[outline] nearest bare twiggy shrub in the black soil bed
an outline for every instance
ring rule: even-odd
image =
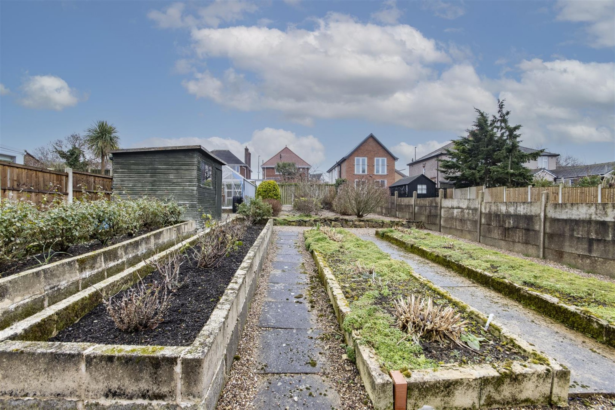
[[[163,320],[172,297],[164,284],[146,285],[143,280],[124,292],[122,299],[103,299],[109,317],[124,332],[154,329]]]

